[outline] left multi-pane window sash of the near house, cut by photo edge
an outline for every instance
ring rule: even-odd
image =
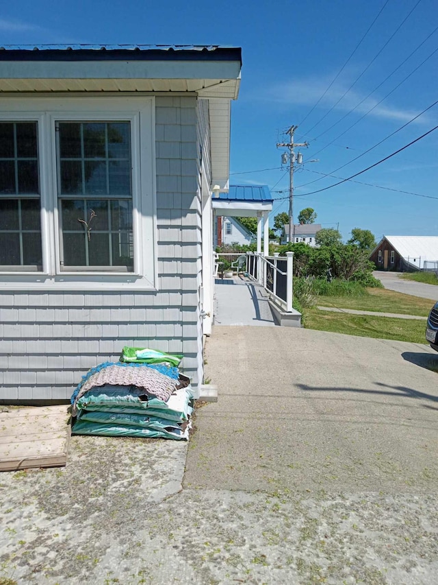
[[[36,122],[0,122],[0,267],[42,270]]]

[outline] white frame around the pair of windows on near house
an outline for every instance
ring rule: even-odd
[[[133,272],[68,271],[60,265],[55,122],[129,121],[131,124]],[[38,123],[42,272],[2,271],[1,289],[154,289],[157,283],[155,100],[153,97],[0,98],[0,121]],[[141,144],[141,149],[140,149]]]

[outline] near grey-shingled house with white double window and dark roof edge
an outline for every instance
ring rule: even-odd
[[[211,194],[229,187],[240,48],[0,50],[0,401],[64,401],[123,346],[211,331]]]

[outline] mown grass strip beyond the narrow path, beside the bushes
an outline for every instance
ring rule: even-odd
[[[361,296],[318,296],[316,304],[337,309],[357,309],[377,313],[399,313],[427,317],[433,301],[388,289],[364,289]]]

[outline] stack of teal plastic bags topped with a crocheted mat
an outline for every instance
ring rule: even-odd
[[[187,440],[193,396],[181,356],[124,348],[120,359],[91,368],[77,385],[72,432]]]

